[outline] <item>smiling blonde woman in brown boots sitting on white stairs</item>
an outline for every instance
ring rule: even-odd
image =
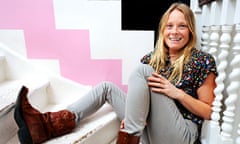
[[[204,119],[210,119],[217,76],[214,58],[194,48],[195,19],[191,9],[174,3],[159,24],[154,52],[130,75],[127,96],[109,82],[59,112],[40,113],[21,89],[15,109],[21,143],[42,143],[71,132],[80,120],[105,102],[121,123],[117,144],[193,144]]]

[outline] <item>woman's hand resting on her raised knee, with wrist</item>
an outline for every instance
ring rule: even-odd
[[[153,92],[162,93],[173,99],[181,99],[184,97],[184,92],[176,88],[170,81],[154,72],[148,77],[148,85]]]

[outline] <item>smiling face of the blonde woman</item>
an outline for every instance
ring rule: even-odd
[[[170,53],[176,53],[189,41],[189,29],[182,12],[175,9],[168,18],[163,31],[164,42]]]

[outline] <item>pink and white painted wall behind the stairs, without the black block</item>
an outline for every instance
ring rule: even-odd
[[[81,84],[126,90],[153,42],[153,31],[121,30],[120,0],[0,0],[0,43]]]

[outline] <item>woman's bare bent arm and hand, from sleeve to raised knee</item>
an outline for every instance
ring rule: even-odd
[[[198,99],[186,94],[183,90],[176,88],[167,79],[157,73],[148,78],[148,85],[153,92],[163,93],[173,99],[177,99],[186,109],[204,119],[211,118],[211,106],[214,100],[214,89],[216,87],[215,74],[209,73],[205,82],[198,88]]]

